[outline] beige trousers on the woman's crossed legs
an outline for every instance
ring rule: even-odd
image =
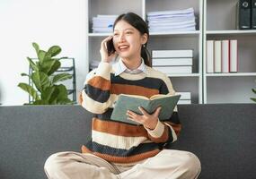
[[[72,151],[53,154],[45,163],[49,179],[194,179],[200,169],[194,154],[173,149],[163,149],[153,158],[131,166]]]

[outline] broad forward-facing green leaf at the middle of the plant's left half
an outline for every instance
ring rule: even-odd
[[[33,72],[31,74],[31,79],[33,83],[36,85],[36,88],[42,92],[45,90],[47,87],[50,86],[50,81],[49,77],[46,73],[44,72]]]

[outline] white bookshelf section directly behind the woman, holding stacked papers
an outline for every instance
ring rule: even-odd
[[[99,60],[101,55],[100,45],[103,38],[110,33],[93,33],[92,18],[97,14],[120,14],[134,12],[146,20],[146,13],[153,11],[181,10],[193,7],[197,17],[195,31],[164,31],[161,33],[150,33],[148,50],[166,49],[193,49],[193,67],[189,74],[169,75],[176,91],[191,92],[191,102],[203,103],[203,0],[88,0],[88,28],[86,38],[86,63],[90,60]],[[88,72],[88,69],[86,69]]]

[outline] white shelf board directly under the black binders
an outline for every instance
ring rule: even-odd
[[[207,30],[207,35],[251,35],[256,30]]]

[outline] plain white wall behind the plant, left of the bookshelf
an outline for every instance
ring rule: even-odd
[[[59,56],[75,57],[76,88],[85,79],[85,0],[1,0],[0,1],[0,103],[22,105],[28,93],[17,87],[28,82],[26,56],[35,57],[32,42],[47,50],[60,46]]]

